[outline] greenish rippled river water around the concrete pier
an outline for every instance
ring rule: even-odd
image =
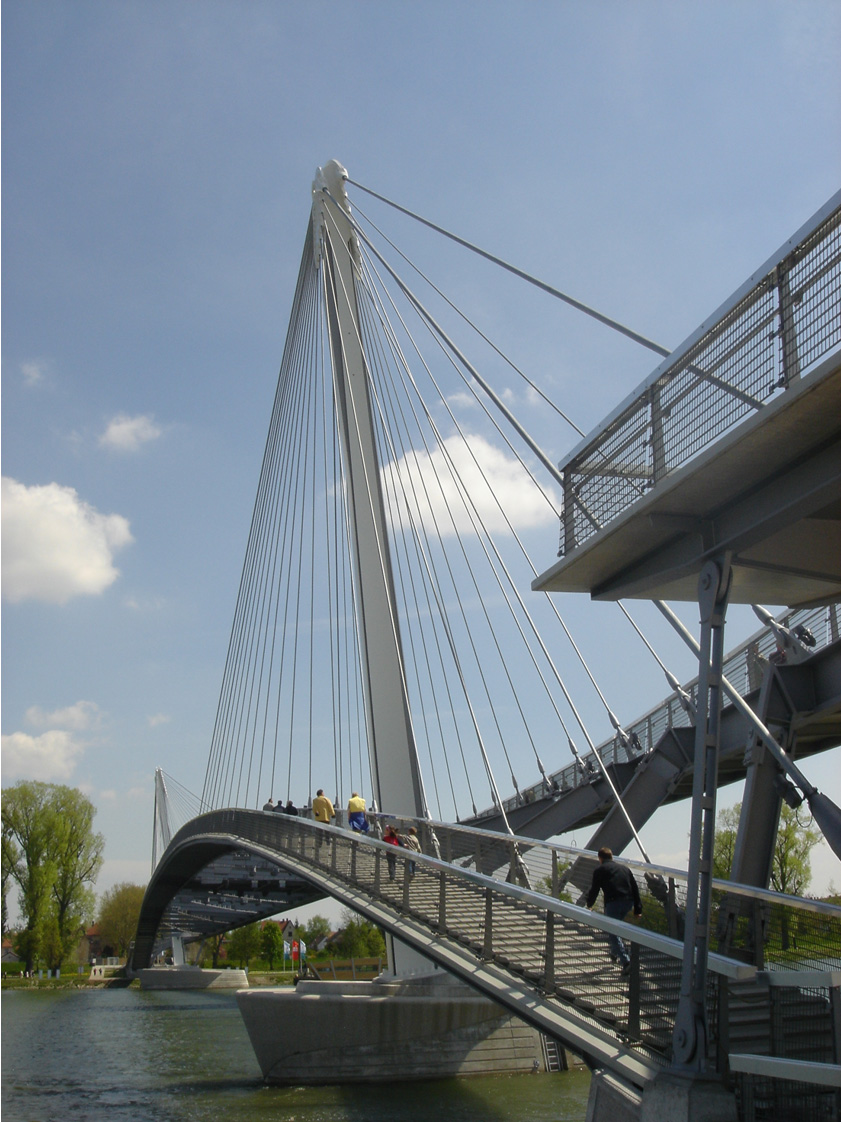
[[[268,1087],[231,992],[7,990],[0,1008],[3,1122],[583,1122],[586,1112],[584,1070]]]

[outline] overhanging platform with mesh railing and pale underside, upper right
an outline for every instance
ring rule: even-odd
[[[711,552],[731,603],[841,595],[841,192],[561,465],[543,591],[694,600]]]

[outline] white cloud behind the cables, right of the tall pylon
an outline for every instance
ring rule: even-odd
[[[404,506],[405,489],[414,519],[419,517],[429,528],[437,522],[442,536],[455,533],[453,522],[459,533],[471,531],[472,523],[464,507],[461,489],[456,487],[446,462],[450,460],[473,508],[490,533],[507,528],[502,512],[517,530],[555,522],[554,512],[518,460],[507,456],[483,436],[468,439],[469,448],[461,436],[451,436],[444,441],[446,456],[441,449],[435,449],[431,454],[408,453],[396,466],[383,468],[386,486],[389,491],[400,496],[400,516],[404,521],[408,519]],[[410,482],[406,482],[404,487],[398,482],[399,479],[408,479]]]

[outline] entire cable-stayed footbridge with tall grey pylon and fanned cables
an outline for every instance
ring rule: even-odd
[[[135,966],[167,932],[333,895],[392,937],[392,971],[442,966],[643,1102],[665,1073],[740,1080],[745,1116],[786,1079],[837,1111],[841,911],[769,885],[783,801],[841,850],[801,767],[841,739],[841,196],[674,352],[538,283],[664,357],[557,467],[544,445],[563,411],[348,182],[331,164],[314,184],[204,788],[174,836],[160,819]],[[529,402],[538,434],[517,416]],[[542,573],[553,524],[561,560]],[[622,723],[603,647],[529,586],[650,601],[697,675],[680,680],[620,604],[635,662],[669,688]],[[666,599],[700,605],[699,640]],[[730,599],[764,626],[726,660]],[[721,883],[715,792],[737,779]],[[423,854],[259,809],[306,810],[317,788],[362,791]],[[688,795],[680,874],[644,835]],[[546,842],[588,826],[588,852]],[[606,844],[644,858],[640,927],[580,907]],[[634,947],[627,977],[611,931]]]

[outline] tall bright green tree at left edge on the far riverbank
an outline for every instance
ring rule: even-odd
[[[104,847],[95,813],[75,788],[21,781],[3,791],[3,894],[11,882],[18,886],[27,969],[41,959],[59,967],[93,914]]]

